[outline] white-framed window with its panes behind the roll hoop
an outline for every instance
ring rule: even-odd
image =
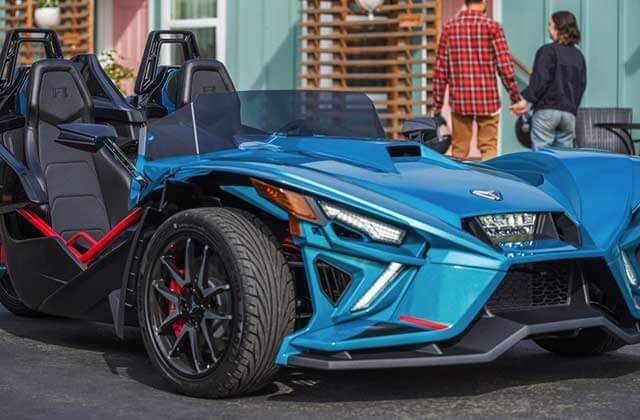
[[[225,15],[226,0],[162,0],[162,28],[193,31],[200,54],[220,61],[225,58]],[[171,51],[170,61],[179,61],[177,54]]]

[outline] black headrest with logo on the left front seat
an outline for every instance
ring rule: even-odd
[[[31,67],[27,95],[30,118],[52,124],[91,119],[91,94],[71,61],[48,59],[35,63]]]

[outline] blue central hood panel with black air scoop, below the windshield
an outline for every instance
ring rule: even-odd
[[[453,161],[417,144],[339,140],[290,142],[286,149],[314,159],[300,166],[340,178],[418,209],[452,213],[460,218],[514,211],[562,211],[562,206],[535,186],[480,165]],[[393,157],[407,154],[417,156]],[[327,150],[328,149],[328,150]],[[474,195],[494,191],[499,201]]]

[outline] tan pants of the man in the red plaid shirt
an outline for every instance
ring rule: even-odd
[[[478,149],[482,153],[482,160],[496,157],[498,154],[498,124],[500,115],[461,115],[451,114],[453,128],[453,157],[466,159],[469,156],[471,138],[473,137],[473,122],[478,124]]]

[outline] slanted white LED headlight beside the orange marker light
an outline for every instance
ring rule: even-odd
[[[363,216],[326,201],[319,201],[319,204],[327,218],[356,229],[374,241],[400,245],[404,240],[406,232],[395,226]]]

